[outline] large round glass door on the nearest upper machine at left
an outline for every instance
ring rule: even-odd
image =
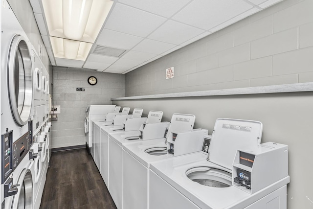
[[[28,122],[33,101],[33,75],[28,46],[20,35],[13,38],[8,63],[10,107],[15,122],[23,126]]]

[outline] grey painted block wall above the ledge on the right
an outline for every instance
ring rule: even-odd
[[[312,8],[283,0],[133,70],[125,96],[313,82]]]

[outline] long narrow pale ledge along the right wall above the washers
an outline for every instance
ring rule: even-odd
[[[219,95],[241,95],[241,94],[261,94],[261,93],[291,93],[291,92],[312,92],[313,82],[284,84],[274,86],[247,87],[237,89],[222,89],[199,92],[182,92],[182,93],[164,93],[142,96],[128,96],[111,98],[111,100],[131,100],[131,99],[154,99],[154,98],[171,98],[171,97],[190,97],[190,96],[219,96]]]

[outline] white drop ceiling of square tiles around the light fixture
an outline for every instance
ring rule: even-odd
[[[53,66],[125,74],[278,1],[114,0],[86,61],[54,57],[42,2],[30,3]],[[94,54],[98,45],[125,52],[118,57]]]

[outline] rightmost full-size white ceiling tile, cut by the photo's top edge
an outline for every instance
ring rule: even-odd
[[[250,8],[243,0],[195,0],[172,19],[209,30]]]

